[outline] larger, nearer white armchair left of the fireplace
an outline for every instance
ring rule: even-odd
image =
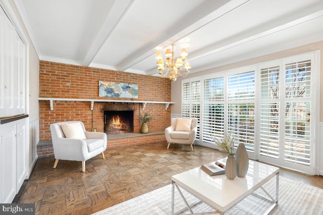
[[[107,140],[104,132],[89,132],[83,122],[67,121],[51,124],[50,133],[56,159],[54,169],[59,160],[82,161],[82,172],[85,172],[85,161],[99,154],[104,159]]]

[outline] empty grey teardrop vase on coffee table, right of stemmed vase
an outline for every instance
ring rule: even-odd
[[[249,157],[244,144],[239,144],[236,151],[237,176],[245,177],[249,168]]]

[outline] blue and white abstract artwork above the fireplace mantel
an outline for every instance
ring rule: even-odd
[[[99,97],[138,98],[138,85],[99,81]]]

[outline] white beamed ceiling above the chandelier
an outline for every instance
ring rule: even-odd
[[[14,2],[40,60],[146,75],[174,42],[194,73],[323,40],[322,0]]]

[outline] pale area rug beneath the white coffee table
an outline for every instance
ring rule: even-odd
[[[266,183],[265,190],[275,196],[276,177]],[[181,190],[189,203],[197,199]],[[258,189],[256,192],[262,192]],[[128,201],[93,213],[102,214],[171,214],[172,187],[167,185]],[[225,214],[263,214],[270,203],[254,195],[239,202]],[[175,211],[185,207],[185,204],[175,189]],[[213,209],[204,203],[192,207],[193,212],[207,212]],[[188,210],[183,213],[189,213]],[[323,214],[323,189],[313,187],[302,182],[280,176],[279,178],[279,205],[270,214]]]

